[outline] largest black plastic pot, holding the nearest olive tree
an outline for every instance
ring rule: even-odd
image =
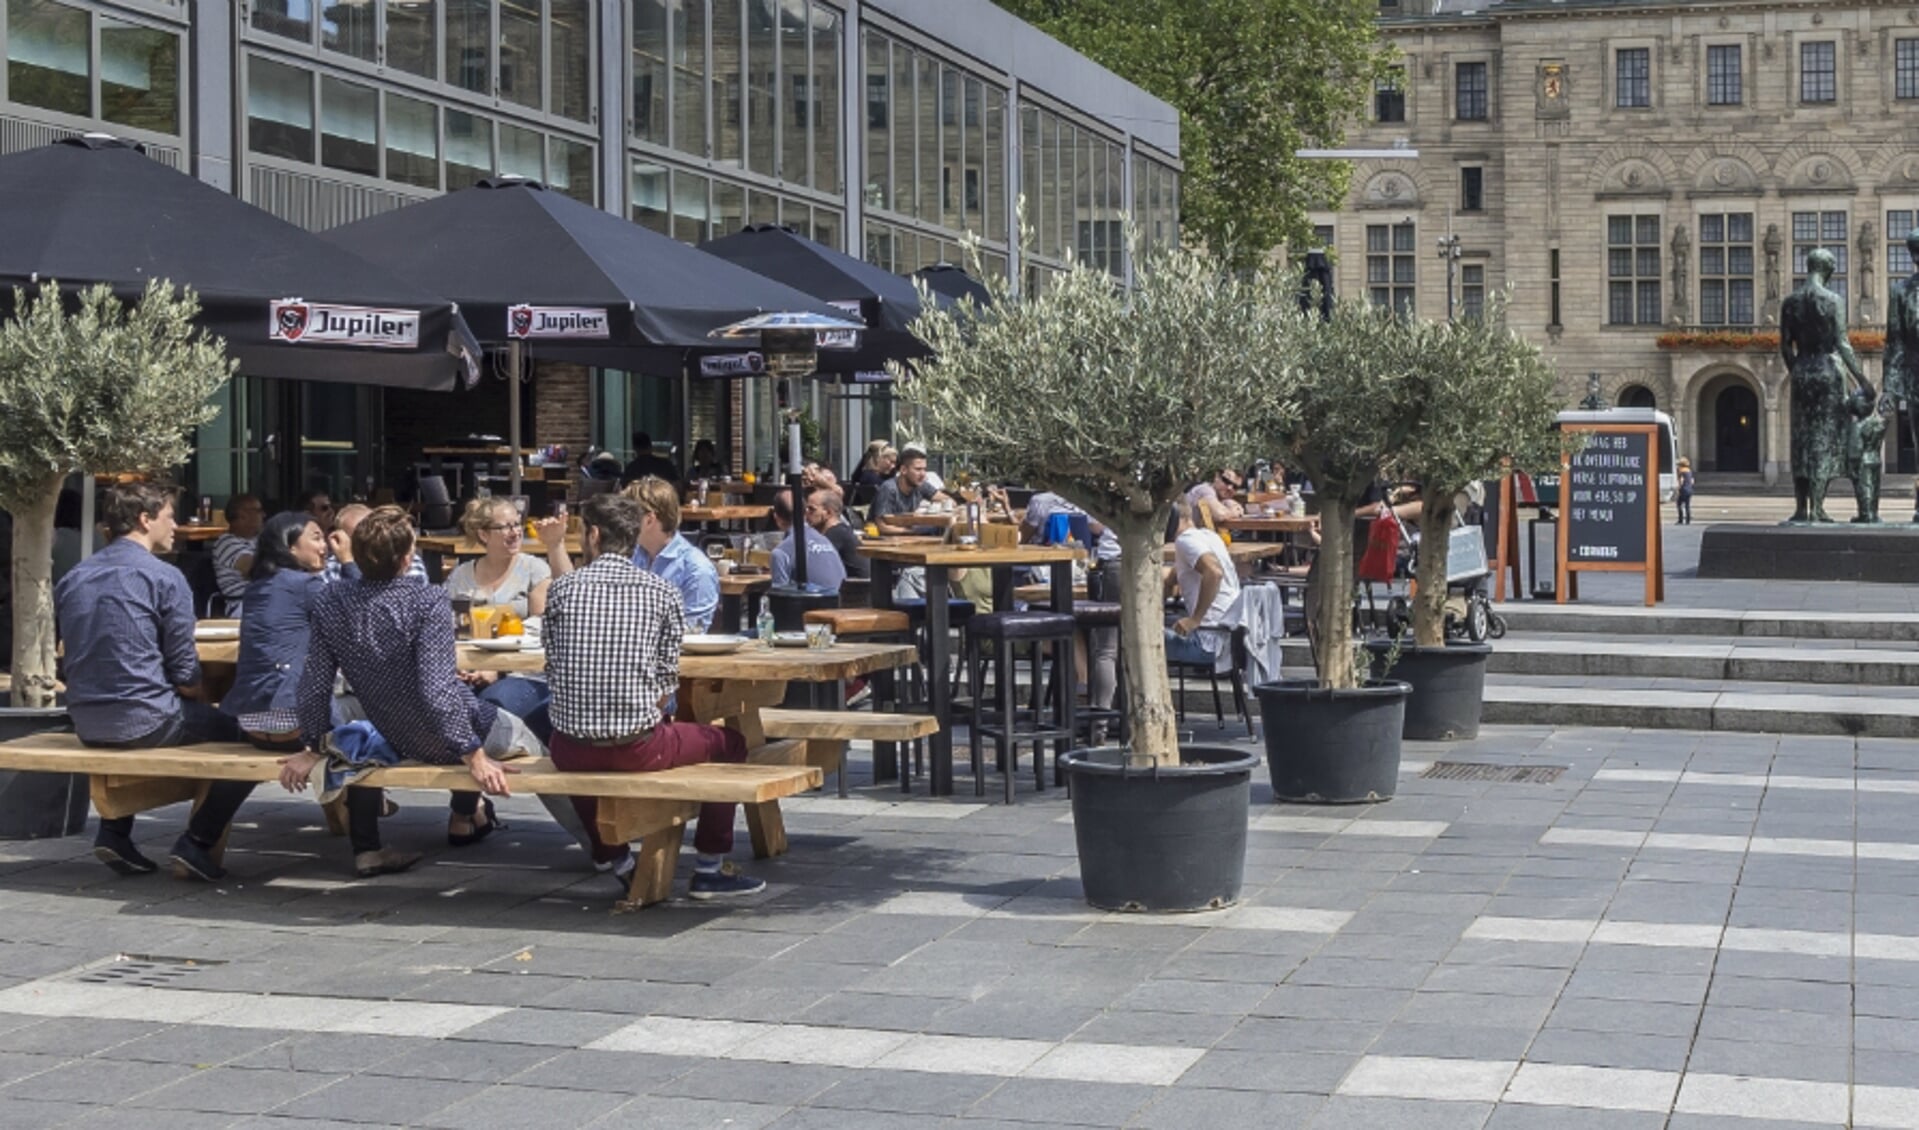
[[[1180,746],[1178,765],[1134,769],[1125,750],[1103,748],[1073,750],[1061,764],[1086,902],[1146,913],[1240,902],[1259,754]]]

